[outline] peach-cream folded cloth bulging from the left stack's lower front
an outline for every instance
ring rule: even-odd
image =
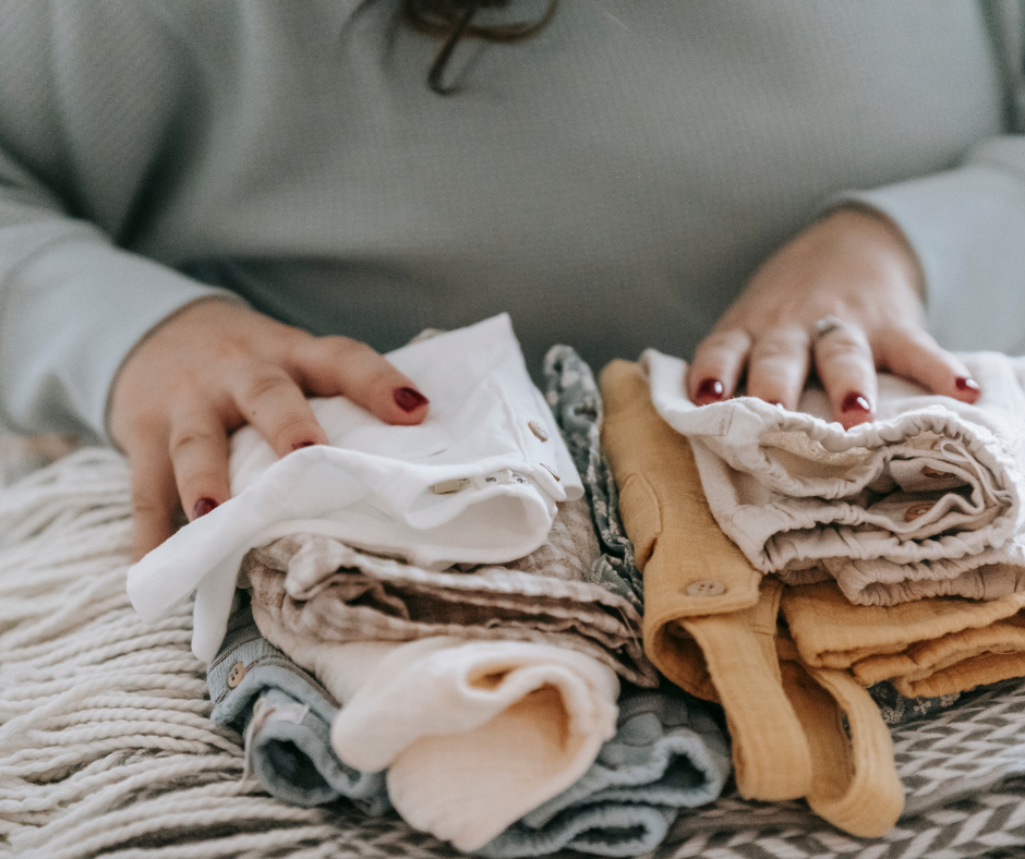
[[[399,814],[460,850],[572,785],[615,734],[616,676],[574,651],[447,637],[339,643],[255,616],[342,703],[338,757],[387,769]]]

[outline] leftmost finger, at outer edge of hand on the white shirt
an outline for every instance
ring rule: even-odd
[[[132,537],[134,560],[174,533],[173,518],[178,506],[174,473],[167,453],[167,435],[140,433],[138,437],[144,440],[128,451],[135,524]]]

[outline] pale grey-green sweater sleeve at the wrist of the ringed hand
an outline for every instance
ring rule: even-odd
[[[904,232],[941,346],[1025,353],[1025,135],[982,142],[958,169],[832,201],[847,202]]]

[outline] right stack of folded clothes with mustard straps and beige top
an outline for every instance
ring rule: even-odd
[[[813,389],[801,412],[698,408],[676,359],[604,371],[646,652],[723,704],[745,797],[806,797],[881,835],[903,790],[866,688],[887,681],[894,721],[894,695],[951,700],[1025,675],[1025,363],[965,361],[975,406],[882,377],[879,420],[847,432]]]

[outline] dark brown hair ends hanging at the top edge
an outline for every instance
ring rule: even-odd
[[[451,95],[455,89],[442,82],[445,66],[456,45],[463,38],[478,38],[485,41],[512,43],[524,41],[544,29],[555,15],[558,0],[548,0],[544,14],[536,21],[515,21],[508,24],[473,23],[479,9],[502,8],[509,0],[402,0],[402,17],[414,29],[444,39],[431,70],[427,72],[427,85],[439,96]]]

